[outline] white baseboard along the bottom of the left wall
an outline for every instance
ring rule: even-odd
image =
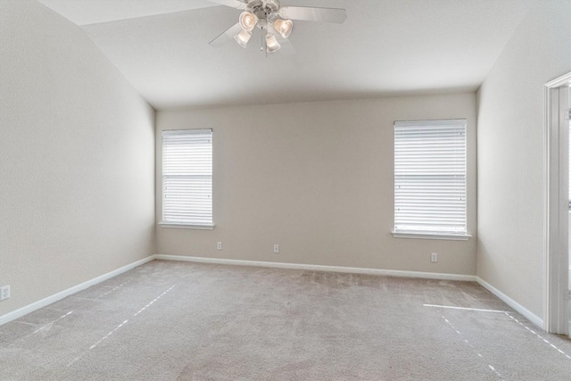
[[[151,256],[146,257],[145,259],[142,259],[140,261],[130,263],[127,266],[123,266],[120,269],[116,269],[116,270],[113,270],[111,272],[108,272],[107,274],[103,274],[100,277],[95,277],[91,280],[87,280],[87,282],[83,282],[78,286],[70,287],[67,290],[63,290],[60,293],[50,295],[50,296],[48,296],[42,300],[28,304],[27,306],[24,306],[18,310],[8,312],[5,315],[0,316],[0,326],[2,326],[3,324],[5,324],[9,321],[12,321],[14,319],[21,318],[22,316],[27,315],[30,312],[33,312],[33,311],[39,310],[40,308],[46,307],[47,305],[52,304],[53,302],[57,302],[59,300],[62,300],[66,296],[70,296],[70,294],[75,294],[81,290],[85,290],[87,287],[94,286],[94,285],[101,283],[101,282],[103,282],[107,279],[110,279],[112,277],[117,277],[118,275],[120,275],[124,272],[127,272],[129,269],[135,269],[136,267],[141,266],[142,264],[145,264],[146,262],[153,261],[154,257],[155,257],[154,255],[151,255]]]

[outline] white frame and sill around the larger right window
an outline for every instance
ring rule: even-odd
[[[397,128],[406,127],[446,127],[463,125],[464,128],[464,226],[462,231],[439,230],[439,229],[408,229],[396,228],[397,224]],[[419,238],[419,239],[442,239],[442,240],[459,240],[467,241],[471,235],[468,234],[468,120],[451,119],[451,120],[396,120],[393,124],[394,145],[393,145],[393,230],[391,233],[395,238]],[[434,154],[434,153],[430,153]],[[420,224],[419,224],[420,225]]]

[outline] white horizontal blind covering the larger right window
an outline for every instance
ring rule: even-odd
[[[394,232],[466,235],[466,120],[394,124]]]

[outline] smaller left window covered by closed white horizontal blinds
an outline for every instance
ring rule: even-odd
[[[161,225],[213,228],[211,129],[162,131]]]

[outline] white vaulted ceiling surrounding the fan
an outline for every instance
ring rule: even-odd
[[[267,58],[212,38],[240,11],[205,0],[39,0],[82,25],[156,109],[280,104],[476,90],[534,0],[283,0],[347,9],[294,21]],[[110,5],[112,3],[112,6]]]

